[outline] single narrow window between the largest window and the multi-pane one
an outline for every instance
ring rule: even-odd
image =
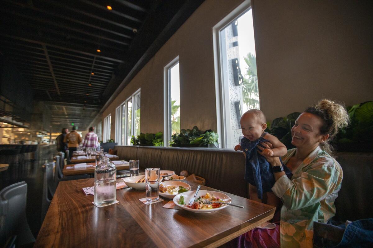
[[[164,144],[180,133],[180,73],[179,57],[164,67]]]

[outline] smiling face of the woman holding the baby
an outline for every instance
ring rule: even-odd
[[[319,145],[320,140],[325,140],[326,135],[320,134],[323,120],[314,114],[303,112],[295,120],[291,128],[291,144],[298,147],[314,147]],[[329,136],[329,135],[327,135]]]

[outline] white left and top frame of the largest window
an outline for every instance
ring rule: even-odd
[[[250,0],[245,0],[238,7],[236,7],[231,13],[225,16],[220,22],[213,27],[213,50],[214,50],[214,74],[215,74],[215,95],[216,95],[216,124],[217,133],[219,135],[218,142],[222,148],[227,147],[227,124],[225,101],[225,85],[224,85],[224,73],[223,73],[223,58],[220,51],[222,40],[220,37],[220,31],[230,25],[233,20],[244,15],[251,8]],[[229,113],[229,112],[228,112]]]

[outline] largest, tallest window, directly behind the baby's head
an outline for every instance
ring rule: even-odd
[[[233,148],[242,137],[239,120],[259,109],[254,26],[250,2],[245,1],[213,31],[219,142]]]

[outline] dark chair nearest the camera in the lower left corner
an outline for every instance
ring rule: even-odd
[[[12,242],[13,235],[17,236],[16,247],[35,242],[26,218],[26,195],[24,181],[0,191],[0,244]]]

